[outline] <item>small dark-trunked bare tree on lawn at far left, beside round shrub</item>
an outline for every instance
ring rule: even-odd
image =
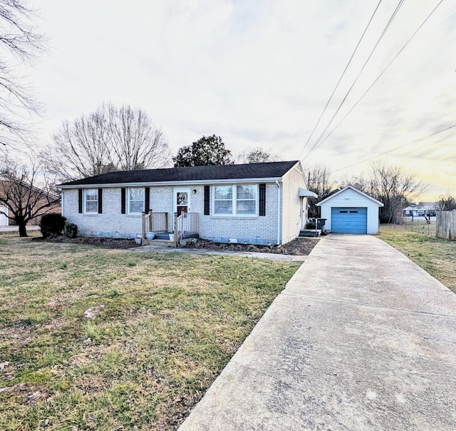
[[[8,212],[0,211],[19,226],[19,236],[27,236],[30,220],[46,213],[60,201],[54,182],[43,174],[36,159],[30,165],[4,156],[0,160],[0,203]]]

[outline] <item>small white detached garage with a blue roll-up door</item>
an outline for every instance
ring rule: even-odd
[[[333,233],[378,233],[378,208],[383,203],[353,186],[341,188],[316,204],[321,218],[326,218],[325,230]]]

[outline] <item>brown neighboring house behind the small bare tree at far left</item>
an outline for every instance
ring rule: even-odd
[[[16,211],[18,206],[23,206],[23,208],[26,206],[27,208],[25,213],[28,217],[36,215],[36,217],[31,218],[31,220],[27,222],[27,225],[38,225],[40,215],[46,213],[60,213],[61,211],[61,203],[58,195],[48,195],[46,191],[23,182],[21,182],[19,186],[11,186],[8,176],[2,175],[0,176],[0,196],[8,195],[11,195],[11,201],[8,202],[8,205],[12,206],[14,211]],[[46,205],[49,198],[51,201],[56,201],[56,203],[38,210],[37,213],[34,213],[35,208],[41,208],[41,206]],[[8,208],[8,206],[2,203],[0,205],[0,226],[17,225],[16,220],[14,220],[14,218],[9,218],[9,216],[12,216],[12,211]]]

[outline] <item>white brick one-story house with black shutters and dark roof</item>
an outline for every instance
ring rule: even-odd
[[[62,214],[80,235],[134,238],[150,210],[166,224],[156,231],[173,232],[174,215],[196,215],[199,238],[257,245],[296,238],[306,198],[316,197],[299,161],[111,172],[58,188]]]

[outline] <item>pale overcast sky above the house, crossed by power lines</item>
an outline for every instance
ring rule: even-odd
[[[405,0],[328,132],[440,0]],[[400,2],[399,2],[400,3]],[[421,200],[456,194],[456,4],[444,0],[363,100],[315,151],[398,0],[383,0],[338,91],[311,131],[378,0],[36,1],[50,40],[31,74],[46,106],[43,145],[62,121],[103,102],[143,108],[172,153],[216,134],[234,154],[261,146],[282,160],[325,163],[334,176],[385,151],[430,184]],[[306,145],[307,143],[307,145]],[[408,145],[406,145],[408,144]],[[377,160],[375,158],[371,160]],[[353,163],[358,163],[355,166]],[[347,166],[351,166],[346,168]]]

